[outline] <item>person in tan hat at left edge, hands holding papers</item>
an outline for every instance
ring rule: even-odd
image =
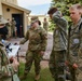
[[[9,57],[6,45],[3,41],[9,35],[8,21],[0,16],[0,81],[19,81],[17,70],[19,63],[15,57]]]

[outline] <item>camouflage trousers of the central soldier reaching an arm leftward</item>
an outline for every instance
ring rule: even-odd
[[[32,62],[35,62],[35,71],[36,71],[36,75],[39,75],[40,73],[40,62],[41,62],[41,54],[39,51],[27,51],[27,54],[26,54],[26,64],[25,64],[25,72],[29,72],[30,71],[30,68],[32,66]]]

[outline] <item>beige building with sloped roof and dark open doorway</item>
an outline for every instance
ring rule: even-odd
[[[17,0],[0,0],[0,16],[5,19],[16,21],[17,37],[25,36],[28,26],[29,10],[18,6]]]

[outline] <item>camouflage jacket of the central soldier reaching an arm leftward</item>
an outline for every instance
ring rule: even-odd
[[[24,44],[29,40],[29,51],[45,51],[46,39],[46,31],[42,27],[38,27],[36,29],[30,28],[27,31],[25,39],[20,41],[20,44]]]

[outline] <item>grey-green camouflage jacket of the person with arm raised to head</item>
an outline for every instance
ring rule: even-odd
[[[67,50],[67,21],[60,17],[57,12],[53,15],[53,22],[56,24],[53,35],[53,50]]]

